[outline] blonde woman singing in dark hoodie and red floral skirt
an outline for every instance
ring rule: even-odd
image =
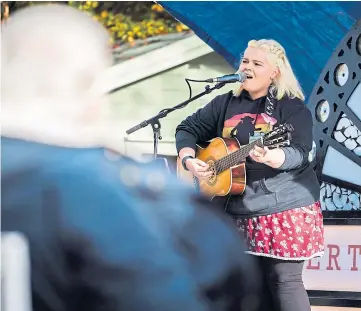
[[[261,309],[307,311],[310,303],[302,281],[303,265],[324,252],[320,188],[308,160],[311,113],[278,42],[250,41],[239,71],[247,80],[236,91],[215,97],[177,127],[178,155],[186,170],[207,179],[212,173],[195,158],[197,143],[233,137],[246,145],[275,126],[293,126],[289,146],[251,151],[242,195],[213,201],[235,219],[248,253],[260,262],[265,284]],[[271,113],[267,113],[269,108]]]

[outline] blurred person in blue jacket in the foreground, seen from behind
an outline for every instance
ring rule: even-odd
[[[2,30],[1,225],[29,242],[33,309],[253,310],[228,219],[155,164],[106,156],[108,42],[60,5]]]

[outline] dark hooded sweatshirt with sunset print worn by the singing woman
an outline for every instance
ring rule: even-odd
[[[204,108],[187,117],[176,129],[176,146],[196,148],[215,137],[235,137],[241,145],[250,133],[262,132],[266,97],[253,101],[246,91],[240,97],[231,92],[215,97]],[[276,102],[274,126],[288,123],[294,127],[289,147],[282,147],[286,160],[278,169],[246,160],[246,190],[242,195],[216,197],[231,215],[253,217],[303,207],[319,200],[319,182],[308,161],[312,149],[312,116],[298,98]],[[256,122],[255,122],[256,121]]]

